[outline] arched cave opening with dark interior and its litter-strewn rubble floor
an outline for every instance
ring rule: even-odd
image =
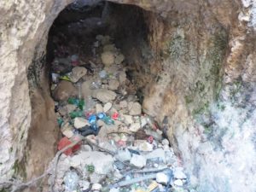
[[[150,13],[132,5],[89,2],[68,5],[49,31],[47,72],[61,132],[58,149],[76,137],[87,138],[61,156],[61,172],[51,189],[131,191],[149,189],[152,182],[161,188],[157,181],[168,190],[172,170],[167,167],[178,166],[179,160],[160,125],[143,113],[147,82],[139,80],[153,58],[148,44]],[[132,186],[129,179],[119,183],[129,169],[143,167],[167,169],[164,177],[140,175]],[[185,183],[183,174],[173,186]]]

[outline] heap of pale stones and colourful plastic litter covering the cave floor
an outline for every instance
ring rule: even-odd
[[[181,161],[126,78],[125,56],[108,36],[96,36],[91,49],[88,63],[63,49],[52,63],[58,149],[78,134],[96,144],[61,154],[55,191],[189,191]]]

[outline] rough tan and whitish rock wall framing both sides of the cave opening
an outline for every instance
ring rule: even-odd
[[[3,178],[37,175],[54,155],[57,133],[44,51],[49,27],[71,2],[0,2]],[[144,110],[159,122],[168,117],[168,137],[195,189],[254,192],[256,4],[246,0],[113,2],[152,11],[145,20],[153,57],[137,63],[141,70],[135,73],[135,82],[138,87],[148,84],[143,89]]]

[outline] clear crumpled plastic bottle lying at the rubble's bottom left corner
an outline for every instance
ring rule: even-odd
[[[64,177],[65,189],[68,192],[73,192],[79,186],[79,175],[76,172],[67,172]]]

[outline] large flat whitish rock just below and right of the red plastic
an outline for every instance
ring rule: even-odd
[[[113,157],[98,151],[81,151],[70,158],[73,167],[92,164],[98,174],[107,174],[113,170]]]

